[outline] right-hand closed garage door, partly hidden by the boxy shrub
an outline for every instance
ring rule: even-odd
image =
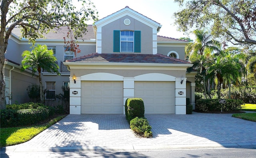
[[[174,114],[174,82],[139,82],[134,84],[134,97],[144,101],[145,114]]]

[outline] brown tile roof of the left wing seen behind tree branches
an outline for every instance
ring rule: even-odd
[[[85,34],[83,34],[82,37],[79,37],[78,40],[95,39],[94,31],[93,31],[93,26],[92,25],[88,25],[86,27],[86,29],[87,29],[87,32]],[[20,27],[15,27],[12,30],[12,33],[15,34],[18,37],[21,37],[22,33],[20,32],[20,30],[21,30]],[[63,37],[67,36],[67,32],[68,32],[68,27],[66,27],[66,26],[62,26],[59,29],[54,28],[48,34],[44,34],[44,38],[46,38],[48,40],[64,40]]]

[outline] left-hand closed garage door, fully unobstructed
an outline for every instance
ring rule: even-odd
[[[82,81],[82,114],[123,114],[122,81]]]

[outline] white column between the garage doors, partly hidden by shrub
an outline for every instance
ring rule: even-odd
[[[128,98],[134,98],[134,78],[124,77],[124,105]],[[125,114],[125,108],[124,108]]]

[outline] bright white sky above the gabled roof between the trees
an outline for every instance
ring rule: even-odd
[[[174,0],[91,0],[98,11],[99,19],[102,19],[126,6],[140,14],[160,23],[162,28],[158,35],[171,38],[189,37],[184,32],[177,31],[174,25],[174,12],[180,10],[178,3]]]

